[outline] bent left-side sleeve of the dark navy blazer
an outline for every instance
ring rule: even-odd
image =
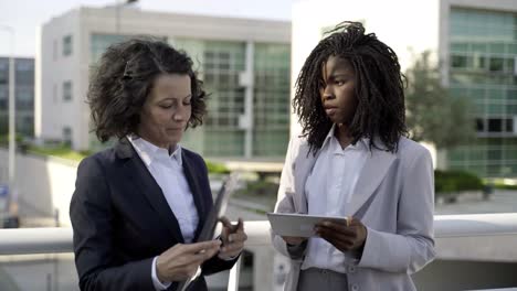
[[[117,265],[113,244],[114,209],[109,187],[96,155],[77,169],[70,206],[80,288],[89,290],[154,290],[152,258]]]

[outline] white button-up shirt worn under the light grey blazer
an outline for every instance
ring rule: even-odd
[[[345,149],[335,137],[336,125],[328,132],[316,163],[305,183],[308,214],[345,217],[345,207],[354,195],[357,180],[369,154],[367,139]],[[320,268],[346,273],[350,258],[319,237],[308,239],[302,269]]]

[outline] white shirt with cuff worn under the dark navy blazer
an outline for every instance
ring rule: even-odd
[[[170,209],[178,219],[184,242],[191,242],[199,223],[198,208],[193,202],[187,177],[183,173],[181,147],[178,144],[172,154],[167,149],[158,148],[143,138],[128,138],[136,152],[144,161]],[[160,282],[156,274],[156,260],[152,260],[151,277],[156,290],[166,290],[171,283]]]

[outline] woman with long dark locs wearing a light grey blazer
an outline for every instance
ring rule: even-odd
[[[324,219],[314,236],[282,237],[285,290],[414,290],[434,258],[431,155],[405,138],[397,54],[344,22],[309,54],[293,100],[302,134],[287,150],[277,213]]]

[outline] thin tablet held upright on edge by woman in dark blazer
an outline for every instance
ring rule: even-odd
[[[201,229],[201,233],[196,242],[213,239],[219,218],[223,216],[226,212],[228,201],[230,200],[231,194],[235,190],[238,182],[239,175],[236,173],[231,173],[225,179],[225,181],[221,185],[221,188],[219,190],[218,196],[215,197],[215,202],[213,203],[213,207],[207,216],[207,220],[204,222],[203,228]],[[186,281],[181,281],[177,290],[187,290],[190,282],[192,282],[199,274],[201,274],[201,271],[198,269],[198,272],[192,278]]]

